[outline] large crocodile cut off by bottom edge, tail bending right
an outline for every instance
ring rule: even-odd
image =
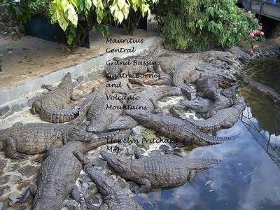
[[[109,137],[127,139],[129,135],[130,130],[92,134],[90,141],[69,141],[59,148],[52,148],[38,160],[38,162],[43,160],[43,163],[36,179],[37,185],[29,186],[18,202],[23,203],[29,195],[35,195],[32,209],[60,210],[69,193],[74,200],[80,202],[75,182],[83,166],[73,152],[85,153],[98,146],[108,144]]]

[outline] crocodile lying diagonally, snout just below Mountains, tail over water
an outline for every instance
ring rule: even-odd
[[[163,137],[181,141],[186,146],[192,144],[199,146],[222,144],[224,141],[236,137],[213,137],[201,132],[186,120],[167,116],[164,113],[134,113],[131,116],[144,127],[155,130]]]

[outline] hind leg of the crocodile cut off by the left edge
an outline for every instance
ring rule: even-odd
[[[27,155],[18,153],[15,146],[15,139],[13,139],[13,137],[8,137],[8,139],[3,141],[3,151],[7,158],[13,158],[17,160],[27,159]]]

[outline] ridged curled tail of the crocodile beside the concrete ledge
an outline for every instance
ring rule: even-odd
[[[65,123],[76,118],[80,112],[79,106],[69,109],[42,109],[40,118],[50,123]]]

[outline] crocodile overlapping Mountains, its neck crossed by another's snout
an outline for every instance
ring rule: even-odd
[[[134,109],[125,110],[123,116],[120,116],[120,118],[109,124],[107,128],[109,130],[125,130],[135,127],[138,123],[131,115],[134,113],[152,112],[158,108],[157,101],[162,97],[179,96],[181,94],[182,92],[179,87],[147,88],[144,92],[134,95],[134,97],[138,97],[137,100],[127,102],[127,107]]]

